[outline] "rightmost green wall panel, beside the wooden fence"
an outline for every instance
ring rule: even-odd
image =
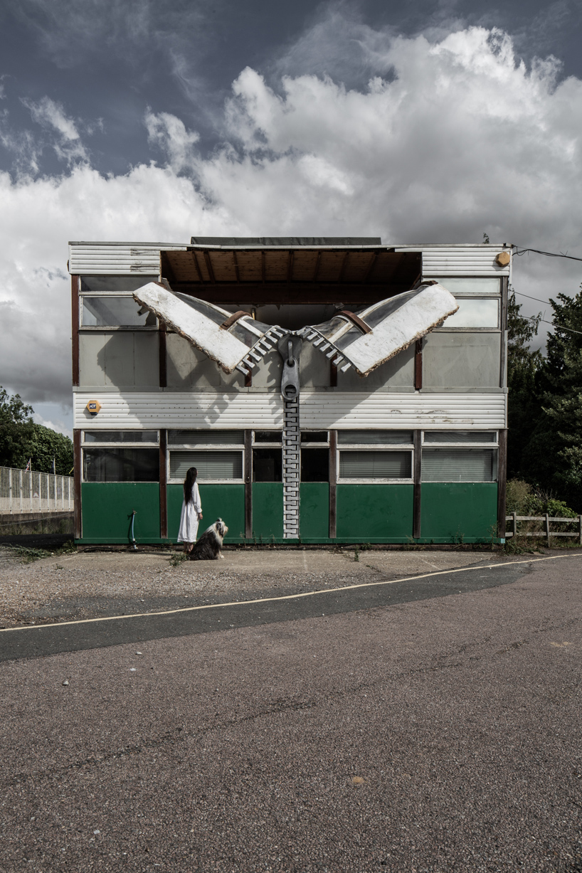
[[[462,542],[496,536],[496,482],[423,482],[422,540]]]

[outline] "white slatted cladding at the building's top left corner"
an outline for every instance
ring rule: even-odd
[[[186,246],[161,243],[70,243],[69,272],[73,276],[158,275],[162,249],[184,251]]]

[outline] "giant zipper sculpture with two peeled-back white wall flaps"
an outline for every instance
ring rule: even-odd
[[[284,402],[284,538],[299,535],[299,355],[303,341],[325,354],[342,372],[353,367],[366,376],[420,340],[459,308],[453,295],[435,281],[397,294],[358,313],[339,309],[323,324],[289,332],[267,325],[250,313],[229,313],[196,297],[150,282],[136,299],[176,333],[200,348],[225,373],[249,375],[264,355],[277,347],[283,357]]]

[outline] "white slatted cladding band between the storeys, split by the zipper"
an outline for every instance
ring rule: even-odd
[[[302,392],[301,427],[492,429],[506,426],[504,394],[386,394]],[[99,400],[99,415],[86,410]],[[74,427],[91,430],[130,428],[268,429],[283,426],[283,401],[275,392],[211,394],[93,390],[73,395]]]

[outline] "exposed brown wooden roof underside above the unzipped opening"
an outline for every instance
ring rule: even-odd
[[[408,291],[421,278],[421,251],[394,251],[374,237],[325,245],[281,237],[264,243],[223,237],[186,251],[161,251],[161,275],[175,292],[218,305],[350,303],[363,306]],[[210,244],[207,240],[220,240]],[[319,241],[318,241],[319,242]],[[240,243],[240,244],[239,244]],[[354,244],[355,243],[355,244]]]

